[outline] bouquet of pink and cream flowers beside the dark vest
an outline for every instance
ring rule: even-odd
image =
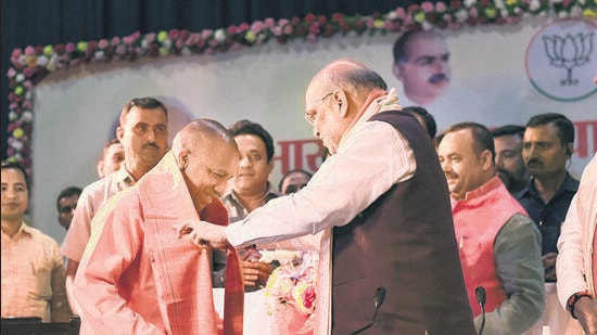
[[[308,334],[313,330],[317,285],[317,253],[301,253],[276,268],[265,287],[268,314],[284,330]],[[290,317],[289,317],[290,315]]]

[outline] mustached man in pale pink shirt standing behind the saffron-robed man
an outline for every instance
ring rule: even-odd
[[[120,113],[120,126],[116,129],[125,149],[125,163],[119,170],[82,190],[73,222],[60,247],[62,255],[68,258],[66,293],[75,314],[79,313],[79,307],[73,293],[73,280],[91,235],[91,219],[109,197],[132,186],[164,156],[168,149],[167,124],[167,109],[160,101],[153,98],[129,101]]]

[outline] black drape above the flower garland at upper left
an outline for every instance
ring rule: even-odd
[[[15,48],[99,40],[173,28],[201,31],[266,17],[385,14],[411,0],[2,0],[1,141],[7,157],[7,70]],[[34,127],[40,127],[35,125]],[[35,139],[34,139],[35,141]]]

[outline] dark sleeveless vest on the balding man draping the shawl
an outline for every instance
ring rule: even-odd
[[[333,229],[332,333],[370,323],[376,289],[384,287],[384,302],[365,334],[477,334],[435,149],[407,113],[383,112],[370,120],[401,131],[417,171]]]

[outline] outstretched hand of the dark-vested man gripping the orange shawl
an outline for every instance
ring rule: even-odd
[[[226,227],[217,226],[205,221],[186,221],[181,224],[175,224],[178,239],[188,234],[193,244],[199,247],[211,246],[221,249],[228,245],[226,239]]]

